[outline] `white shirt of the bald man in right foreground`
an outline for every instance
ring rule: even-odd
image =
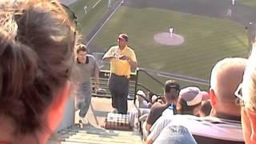
[[[193,115],[174,115],[170,118],[160,117],[150,128],[148,138],[155,140],[168,125],[181,125],[191,134],[224,141],[244,142],[241,122],[215,117],[196,117]]]

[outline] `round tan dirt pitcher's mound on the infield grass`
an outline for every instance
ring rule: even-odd
[[[154,41],[162,45],[177,46],[184,42],[184,38],[178,34],[173,34],[173,38],[171,38],[170,33],[165,32],[154,34]]]

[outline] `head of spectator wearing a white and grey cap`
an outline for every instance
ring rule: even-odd
[[[181,90],[177,102],[178,114],[199,115],[203,100],[206,100],[208,93],[199,90],[198,87],[190,86]]]

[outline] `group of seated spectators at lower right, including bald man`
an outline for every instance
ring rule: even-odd
[[[146,118],[140,119],[145,143],[254,143],[255,98],[250,95],[254,96],[255,66],[248,66],[252,57],[249,62],[245,58],[219,61],[211,71],[207,92],[196,86],[180,90],[178,82],[167,81],[163,103],[152,101]],[[242,85],[245,80],[247,85]]]

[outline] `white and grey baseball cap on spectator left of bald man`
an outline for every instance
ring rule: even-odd
[[[198,87],[189,86],[180,91],[179,97],[186,101],[187,106],[195,106],[209,99],[209,94],[206,91],[199,90]]]

